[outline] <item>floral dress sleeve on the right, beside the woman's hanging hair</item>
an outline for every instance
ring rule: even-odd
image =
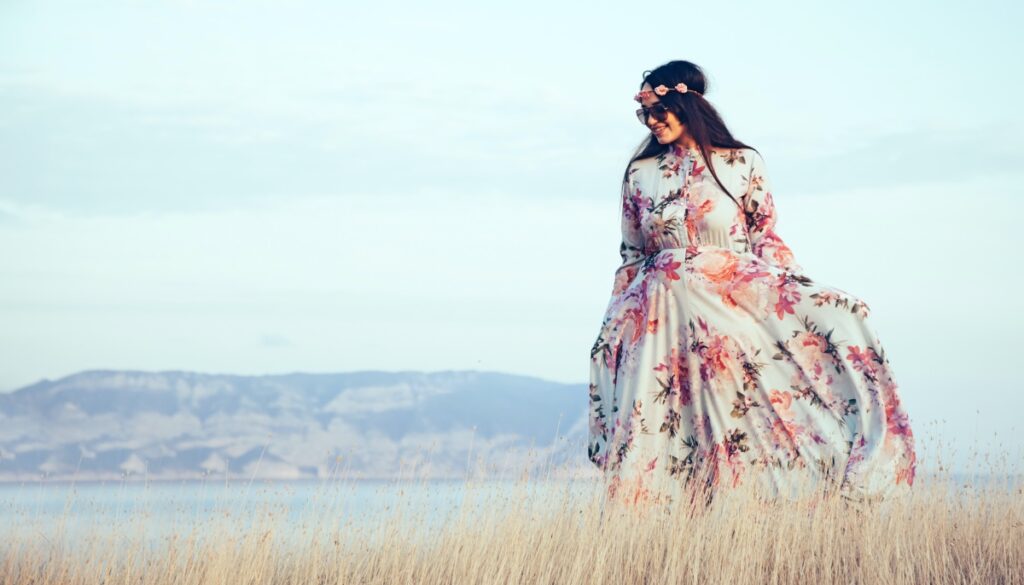
[[[771,195],[771,183],[765,169],[764,159],[756,151],[751,157],[751,174],[743,195],[743,214],[746,218],[746,234],[751,251],[762,260],[775,264],[790,273],[804,271],[793,257],[793,251],[775,233],[775,202]]]

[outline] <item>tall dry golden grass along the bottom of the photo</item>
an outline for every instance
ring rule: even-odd
[[[608,502],[603,489],[557,474],[549,467],[500,489],[468,477],[443,523],[404,497],[354,521],[343,476],[324,482],[299,518],[228,503],[157,542],[144,512],[75,537],[22,517],[4,531],[0,582],[1024,583],[1024,492],[1010,473],[955,488],[948,471],[921,474],[907,497],[867,504],[810,491],[764,500],[750,482],[710,504],[699,492]],[[395,488],[413,484],[434,486]]]

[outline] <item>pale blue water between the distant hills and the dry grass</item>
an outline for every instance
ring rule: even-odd
[[[945,478],[953,492],[1024,487],[1020,475]],[[919,482],[930,480],[919,474]],[[398,530],[402,523],[429,538],[460,515],[471,521],[474,514],[543,511],[561,508],[565,501],[582,505],[599,488],[593,480],[539,479],[0,484],[0,539],[73,546],[86,537],[130,536],[159,546],[189,535],[199,540],[224,534],[241,538],[270,526],[262,523],[288,528],[275,532],[281,537],[307,541],[329,538],[332,531],[383,538],[383,531]]]

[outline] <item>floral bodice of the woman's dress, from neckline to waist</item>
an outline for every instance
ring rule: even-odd
[[[750,251],[741,205],[750,183],[752,151],[719,149],[709,156],[729,195],[695,149],[673,144],[662,155],[631,165],[631,211],[644,254],[691,245]]]

